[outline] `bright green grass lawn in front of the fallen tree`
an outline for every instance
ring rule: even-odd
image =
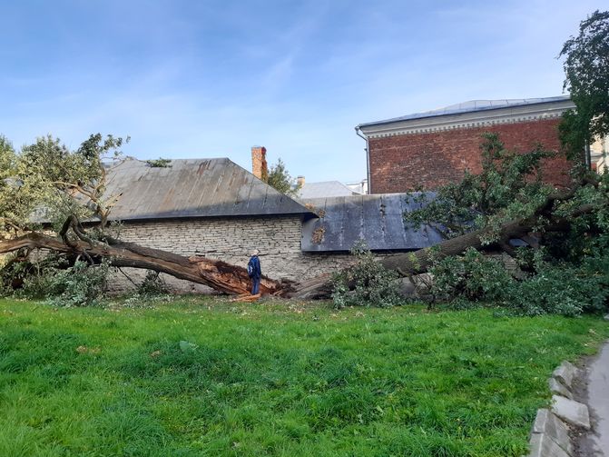
[[[549,374],[608,336],[490,310],[0,300],[0,455],[520,456]]]

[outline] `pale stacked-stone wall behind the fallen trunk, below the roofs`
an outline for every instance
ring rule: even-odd
[[[125,242],[185,256],[205,255],[243,267],[251,251],[259,249],[262,273],[272,279],[302,281],[352,261],[347,253],[302,253],[298,215],[125,222],[119,236]],[[123,268],[123,272],[136,283],[145,275],[145,271],[131,268]],[[163,279],[175,292],[211,292],[168,275]],[[111,284],[113,292],[133,289],[122,273],[115,274]]]

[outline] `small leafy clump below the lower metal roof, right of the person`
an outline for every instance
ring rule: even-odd
[[[334,307],[385,308],[399,304],[398,273],[378,263],[364,243],[357,243],[350,253],[356,257],[356,263],[332,278]]]

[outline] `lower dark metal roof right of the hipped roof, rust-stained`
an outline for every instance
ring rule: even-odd
[[[306,199],[319,219],[302,225],[302,251],[349,251],[364,240],[372,251],[414,250],[442,241],[428,226],[414,230],[404,224],[402,214],[420,204],[407,203],[407,194],[373,194]]]

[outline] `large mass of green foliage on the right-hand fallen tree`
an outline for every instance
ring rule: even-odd
[[[562,196],[541,180],[541,161],[551,154],[539,148],[508,152],[493,134],[485,135],[482,151],[480,174],[447,184],[431,202],[426,194],[413,194],[411,200],[421,207],[405,214],[405,220],[415,226],[432,224],[448,238],[483,229],[480,242],[500,246],[508,241],[502,226],[518,222],[530,227],[528,239],[540,245],[519,251],[517,260],[526,273],[518,279],[473,248],[463,255],[437,255],[429,269],[434,276],[432,296],[454,307],[496,303],[527,315],[605,310],[609,174],[582,174],[573,191]],[[553,204],[550,193],[555,195]]]

